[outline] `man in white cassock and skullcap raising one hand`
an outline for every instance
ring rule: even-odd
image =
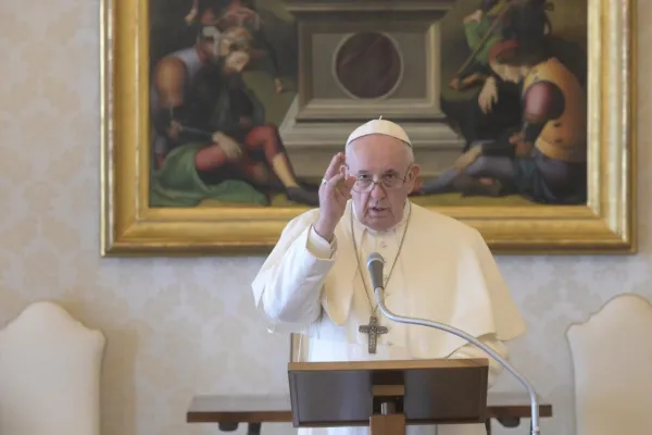
[[[385,319],[365,262],[385,259],[385,302],[401,315],[463,330],[507,358],[525,322],[481,235],[413,203],[418,176],[398,124],[372,120],[349,136],[324,174],[319,207],[292,219],[252,283],[269,330],[299,334],[300,361],[487,358],[455,335]],[[372,327],[374,326],[374,327]],[[486,435],[484,424],[406,427],[409,435]],[[368,427],[300,428],[368,434]]]

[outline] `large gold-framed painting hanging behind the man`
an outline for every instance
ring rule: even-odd
[[[383,116],[496,252],[634,252],[626,0],[103,4],[104,254],[251,253]]]

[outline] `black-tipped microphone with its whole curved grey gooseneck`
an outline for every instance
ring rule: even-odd
[[[374,252],[368,257],[367,260],[367,269],[369,270],[369,274],[372,275],[372,283],[374,286],[374,295],[376,296],[376,301],[378,302],[378,308],[380,312],[388,319],[393,320],[399,323],[406,323],[412,325],[419,326],[428,326],[434,327],[435,330],[444,331],[447,333],[456,335],[457,337],[465,339],[468,343],[479,347],[485,352],[487,352],[491,358],[493,358],[500,365],[502,365],[507,372],[510,372],[527,390],[530,397],[530,406],[531,406],[531,424],[530,424],[530,434],[539,435],[539,398],[537,396],[537,391],[535,391],[534,386],[529,383],[529,381],[523,376],[521,373],[516,371],[516,369],[507,362],[504,358],[498,355],[493,349],[489,346],[485,345],[482,341],[478,340],[476,337],[465,333],[464,331],[457,330],[453,326],[446,325],[443,323],[431,322],[425,319],[413,319],[405,318],[402,315],[394,314],[389,311],[387,307],[385,307],[384,295],[385,288],[383,286],[383,265],[385,264],[385,260],[383,257]]]

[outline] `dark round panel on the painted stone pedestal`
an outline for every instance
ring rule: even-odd
[[[341,86],[358,98],[380,98],[401,78],[401,55],[393,41],[375,32],[349,37],[335,55],[335,74]]]

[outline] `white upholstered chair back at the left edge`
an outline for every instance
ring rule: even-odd
[[[50,301],[0,330],[0,434],[99,435],[104,335]]]

